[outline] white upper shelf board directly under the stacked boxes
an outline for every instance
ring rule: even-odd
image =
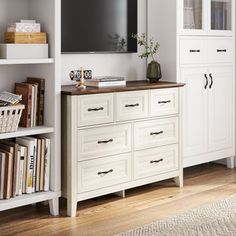
[[[53,58],[46,59],[0,59],[0,65],[51,64]]]

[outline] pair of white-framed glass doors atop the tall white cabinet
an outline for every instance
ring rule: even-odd
[[[181,35],[232,36],[233,0],[180,0]]]

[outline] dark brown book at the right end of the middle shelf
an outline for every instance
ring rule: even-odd
[[[45,94],[45,79],[28,77],[27,82],[31,84],[38,84],[38,104],[36,124],[44,124],[44,94]]]

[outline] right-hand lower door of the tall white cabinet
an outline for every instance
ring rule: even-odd
[[[209,89],[209,151],[232,146],[233,75],[232,67],[212,67]]]

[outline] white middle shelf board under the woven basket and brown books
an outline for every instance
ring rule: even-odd
[[[17,138],[17,137],[23,137],[23,136],[29,136],[29,135],[38,135],[38,134],[49,134],[53,133],[54,128],[48,127],[48,126],[38,126],[34,128],[18,128],[16,132],[13,133],[3,133],[0,134],[0,140],[1,139],[8,139],[8,138]]]

